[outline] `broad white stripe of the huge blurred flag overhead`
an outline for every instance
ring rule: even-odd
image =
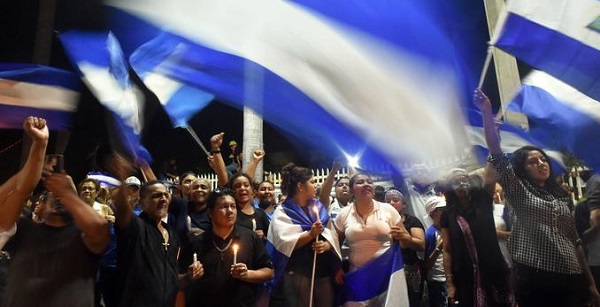
[[[286,1],[108,1],[293,84],[398,165],[467,147],[446,68]],[[389,119],[389,120],[388,120]],[[403,133],[394,142],[390,133]],[[402,153],[402,154],[400,154]],[[439,156],[439,157],[438,157]]]

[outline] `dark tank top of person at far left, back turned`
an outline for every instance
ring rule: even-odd
[[[87,249],[75,224],[21,219],[5,250],[12,261],[3,306],[94,306],[100,257]]]

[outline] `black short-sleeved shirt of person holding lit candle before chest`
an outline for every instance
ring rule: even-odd
[[[204,267],[204,276],[186,289],[188,307],[256,305],[256,290],[262,284],[231,277],[233,244],[239,246],[237,262],[245,263],[249,270],[273,268],[264,243],[251,230],[235,226],[231,235],[223,240],[210,229],[191,242],[193,252]]]

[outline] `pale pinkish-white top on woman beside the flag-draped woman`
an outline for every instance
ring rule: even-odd
[[[350,271],[385,253],[392,242],[390,227],[400,222],[400,214],[392,205],[375,200],[373,210],[364,219],[356,212],[355,204],[342,208],[334,225],[350,246]]]

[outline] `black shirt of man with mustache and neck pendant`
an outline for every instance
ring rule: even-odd
[[[162,225],[169,232],[166,246],[156,222],[144,212],[133,216],[127,228],[117,228],[119,306],[175,304],[179,238]]]

